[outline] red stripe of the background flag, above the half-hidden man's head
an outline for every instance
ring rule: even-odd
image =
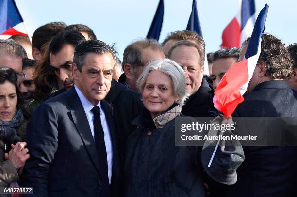
[[[222,48],[240,47],[240,25],[235,17],[224,29],[222,40]]]

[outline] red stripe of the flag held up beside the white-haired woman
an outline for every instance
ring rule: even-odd
[[[230,117],[244,101],[239,88],[248,80],[247,60],[233,64],[214,91],[214,107]]]

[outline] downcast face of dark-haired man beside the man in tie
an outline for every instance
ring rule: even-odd
[[[73,85],[72,61],[74,47],[66,44],[57,54],[50,54],[50,66],[54,68],[56,76],[60,79],[66,89]]]

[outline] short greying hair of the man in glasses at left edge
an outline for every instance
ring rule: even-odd
[[[14,40],[0,39],[0,54],[6,54],[14,58],[27,58],[25,49]]]

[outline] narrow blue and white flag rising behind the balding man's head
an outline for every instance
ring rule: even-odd
[[[191,15],[189,17],[189,21],[188,21],[188,25],[186,30],[190,30],[190,31],[195,31],[196,33],[198,33],[199,36],[202,36],[202,30],[201,30],[201,26],[200,26],[200,21],[199,21],[199,15],[198,15],[198,10],[197,10],[197,3],[196,0],[193,0],[192,3],[192,12]],[[204,75],[209,75],[209,69],[208,69],[208,62],[207,62],[207,57],[205,54],[205,61],[204,61]]]

